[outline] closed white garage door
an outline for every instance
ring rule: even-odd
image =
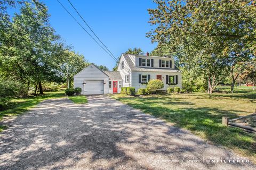
[[[85,95],[100,95],[103,94],[103,80],[84,80]]]

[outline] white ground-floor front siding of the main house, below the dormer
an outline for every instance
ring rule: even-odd
[[[167,90],[168,87],[173,87],[173,86],[169,86],[168,84],[166,84],[166,75],[174,75],[174,82],[175,80],[175,75],[178,75],[178,84],[175,85],[174,87],[180,87],[181,88],[181,73],[180,72],[139,72],[139,71],[132,71],[132,87],[135,88],[135,90],[137,91],[139,88],[146,88],[147,85],[146,84],[141,84],[139,83],[139,74],[150,74],[150,79],[156,79],[156,75],[162,75],[162,81],[164,83],[164,88],[163,90]]]

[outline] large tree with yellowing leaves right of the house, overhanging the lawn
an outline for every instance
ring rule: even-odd
[[[149,9],[152,42],[177,55],[180,62],[202,71],[212,93],[219,81],[237,62],[252,53],[256,8],[251,1],[155,1]],[[234,55],[235,54],[235,55]],[[237,57],[238,58],[238,57]],[[189,64],[188,64],[189,63]]]

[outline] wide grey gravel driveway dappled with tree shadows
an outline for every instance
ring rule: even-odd
[[[105,95],[88,99],[45,100],[10,121],[0,134],[0,169],[256,169]]]

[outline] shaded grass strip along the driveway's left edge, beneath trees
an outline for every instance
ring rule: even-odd
[[[4,116],[11,117],[11,116],[17,116],[19,114],[22,114],[29,109],[35,107],[38,103],[45,99],[52,99],[52,98],[60,98],[65,97],[64,91],[58,91],[58,92],[45,92],[43,96],[30,96],[27,98],[13,98],[11,100],[11,104],[9,107],[4,110],[0,111],[0,121],[3,119]],[[6,126],[3,126],[0,124],[0,132],[2,132],[4,129],[6,129]]]

